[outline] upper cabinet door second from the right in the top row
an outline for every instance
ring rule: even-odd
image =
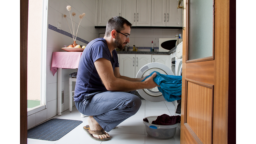
[[[166,0],[152,0],[151,26],[166,26]]]

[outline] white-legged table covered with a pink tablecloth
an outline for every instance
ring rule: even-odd
[[[83,52],[53,52],[51,71],[53,76],[58,70],[58,115],[61,115],[61,83],[62,83],[62,68],[76,69],[78,68],[79,60]]]

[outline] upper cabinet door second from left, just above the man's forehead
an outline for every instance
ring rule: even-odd
[[[122,0],[122,17],[136,26],[136,0]]]

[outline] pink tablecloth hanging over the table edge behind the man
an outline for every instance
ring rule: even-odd
[[[58,68],[78,68],[79,60],[83,52],[53,52],[51,71],[54,74]]]

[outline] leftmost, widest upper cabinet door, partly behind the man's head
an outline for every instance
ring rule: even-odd
[[[98,26],[106,26],[110,18],[122,15],[122,0],[99,0]]]

